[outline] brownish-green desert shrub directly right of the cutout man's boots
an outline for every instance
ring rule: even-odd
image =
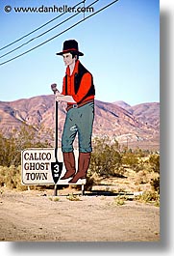
[[[119,167],[121,167],[121,156],[117,150],[117,141],[112,143],[109,137],[102,139],[95,138],[89,165],[91,173],[108,177],[119,172]]]

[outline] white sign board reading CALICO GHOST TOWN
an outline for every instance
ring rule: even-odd
[[[62,150],[58,150],[58,158],[61,162]],[[74,151],[76,162],[78,162],[79,152]],[[59,166],[54,166],[55,149],[52,148],[33,148],[25,149],[21,152],[21,174],[23,185],[69,185],[69,179],[61,180],[65,174],[65,167],[62,163],[62,173],[59,173]],[[86,179],[79,180],[76,185],[86,184]]]

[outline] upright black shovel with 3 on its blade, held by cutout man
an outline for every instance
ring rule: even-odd
[[[57,84],[52,84],[51,89],[56,95],[56,92],[58,91],[57,89]],[[62,175],[62,162],[58,160],[58,101],[56,100],[56,131],[55,131],[55,162],[51,162],[51,171],[52,171],[52,177],[53,181],[55,183],[55,191],[57,191],[57,183]],[[57,192],[56,192],[57,193]]]

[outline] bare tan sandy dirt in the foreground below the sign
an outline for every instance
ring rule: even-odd
[[[78,193],[78,192],[77,192]],[[160,208],[115,196],[67,198],[53,190],[1,191],[0,241],[23,242],[158,242]]]

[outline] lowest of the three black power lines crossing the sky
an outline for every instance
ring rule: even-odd
[[[97,1],[98,1],[98,0],[97,0]],[[72,26],[70,26],[70,27],[68,27],[67,29],[63,30],[61,33],[59,33],[58,35],[52,37],[51,39],[49,39],[49,40],[47,40],[47,41],[45,41],[45,42],[43,42],[43,43],[38,44],[37,46],[35,46],[35,47],[33,47],[33,48],[31,48],[31,49],[29,49],[29,50],[27,50],[27,51],[25,51],[25,52],[23,52],[23,53],[17,55],[17,56],[15,56],[15,57],[13,57],[12,59],[10,59],[10,60],[8,60],[8,61],[5,61],[5,62],[3,62],[3,63],[0,63],[0,66],[4,65],[4,64],[6,64],[6,63],[9,63],[9,62],[11,62],[12,60],[15,60],[15,59],[17,59],[17,58],[19,58],[19,57],[21,57],[21,56],[23,56],[23,55],[25,55],[25,54],[31,52],[31,51],[37,49],[39,46],[41,46],[41,45],[43,45],[43,44],[45,44],[45,43],[48,43],[48,42],[50,42],[50,41],[52,41],[52,40],[58,38],[58,37],[61,36],[63,33],[67,32],[68,30],[72,29],[73,27],[79,25],[79,24],[82,23],[83,21],[87,20],[87,18],[90,18],[91,16],[93,16],[93,15],[95,15],[95,14],[99,14],[100,12],[102,12],[102,11],[104,11],[105,9],[109,8],[110,6],[112,6],[112,4],[116,3],[117,1],[118,1],[118,0],[112,1],[112,3],[108,4],[107,6],[101,8],[101,9],[99,9],[96,13],[88,15],[88,16],[85,17],[84,19],[82,19],[82,20],[76,22],[75,24],[73,24]],[[95,1],[95,2],[96,2],[96,1]],[[94,2],[94,3],[95,3],[95,2]],[[91,5],[92,5],[92,4],[91,4]],[[90,6],[91,6],[91,5],[90,5]]]

